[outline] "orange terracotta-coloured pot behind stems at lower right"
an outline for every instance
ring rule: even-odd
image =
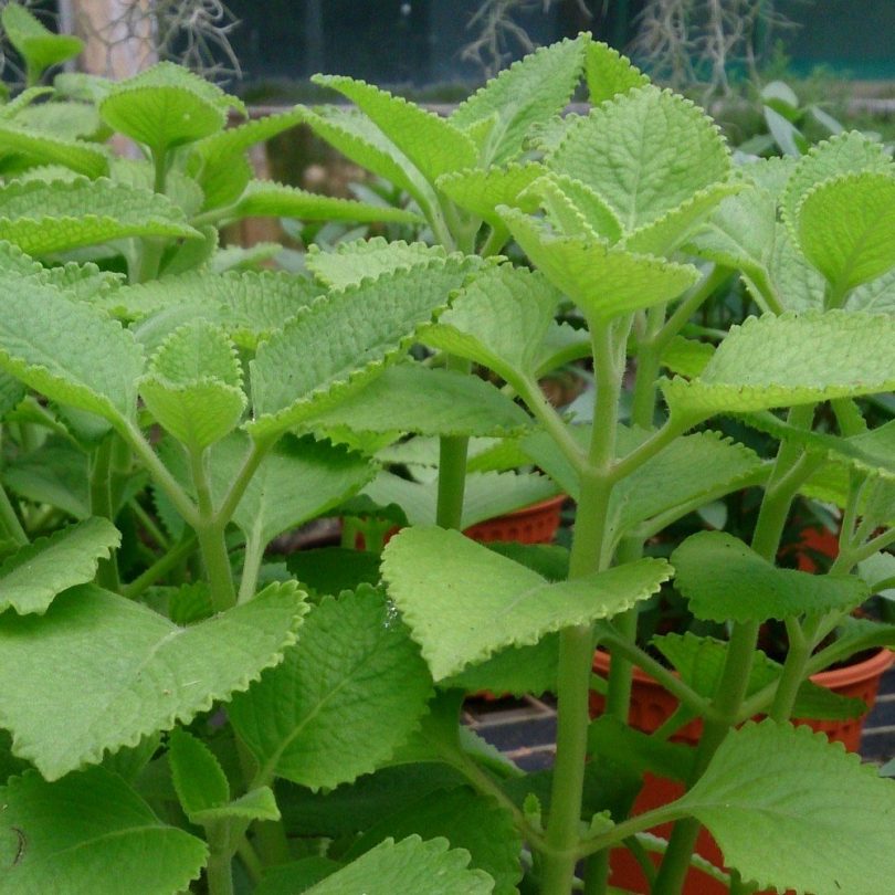
[[[844,668],[825,671],[814,674],[811,680],[820,686],[828,687],[833,693],[842,696],[852,696],[863,699],[867,704],[867,710],[876,702],[876,694],[880,688],[880,678],[895,660],[895,653],[889,650],[880,650],[870,659]],[[600,650],[593,656],[593,671],[603,677],[609,673],[609,655]],[[590,694],[591,717],[599,715],[603,708],[603,697],[598,693]],[[668,718],[677,707],[675,699],[657,681],[634,668],[634,684],[631,694],[631,712],[629,722],[632,727],[643,730],[646,734],[653,733],[666,718]],[[831,741],[842,743],[850,751],[857,751],[861,745],[861,730],[864,726],[866,715],[849,720],[804,720],[800,722],[812,727],[814,730],[822,730]],[[673,737],[678,743],[696,745],[702,733],[702,722],[695,720],[678,730]],[[683,794],[684,788],[673,781],[653,775],[645,775],[643,789],[634,802],[633,813],[642,814],[653,808],[667,804]],[[663,824],[652,832],[667,839],[671,834],[671,824]],[[710,861],[715,866],[722,866],[722,853],[708,831],[699,831],[696,842],[696,852]],[[655,856],[656,864],[659,856]],[[610,859],[612,875],[610,883],[621,888],[630,889],[633,893],[647,893],[646,880],[640,870],[636,861],[626,849],[617,849]],[[684,895],[727,895],[727,887],[717,880],[691,868],[687,881],[684,884]]]

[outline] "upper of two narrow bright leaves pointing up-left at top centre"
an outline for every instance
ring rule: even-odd
[[[473,141],[440,115],[352,77],[315,75],[312,81],[356,103],[430,181],[476,164]]]

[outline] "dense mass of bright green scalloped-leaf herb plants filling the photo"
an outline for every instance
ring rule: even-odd
[[[593,108],[562,118],[582,73]],[[895,383],[892,160],[845,134],[737,169],[697,107],[587,35],[446,119],[323,82],[358,109],[224,129],[238,101],[166,64],[60,75],[0,109],[0,893],[600,893],[609,850],[643,856],[665,821],[654,893],[680,892],[701,824],[731,892],[888,892],[892,781],[789,718],[860,710],[807,678],[895,640],[849,618],[892,585],[893,423],[868,429],[861,403]],[[299,122],[408,204],[253,181],[246,148]],[[110,131],[145,159],[113,158]],[[246,214],[432,239],[259,272],[218,246]],[[518,250],[530,266],[498,254]],[[682,337],[735,274],[760,316]],[[557,323],[570,304],[579,328]],[[573,358],[596,388],[561,415],[538,379]],[[730,414],[776,455],[707,428]],[[386,503],[369,483],[407,434],[440,440],[436,525],[381,566],[271,556],[303,522]],[[576,499],[570,551],[455,530],[470,438]],[[762,494],[749,544],[702,531],[643,555],[743,488]],[[843,508],[823,576],[775,566],[799,493]],[[729,638],[655,638],[663,664],[638,607],[672,579]],[[782,664],[756,649],[767,619]],[[676,722],[703,718],[698,748],[625,725],[633,665]],[[558,694],[550,772],[460,725],[482,687]],[[687,791],[632,817],[646,768]]]

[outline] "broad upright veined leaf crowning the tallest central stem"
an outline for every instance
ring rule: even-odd
[[[730,171],[715,123],[688,99],[652,85],[575,119],[545,165],[587,183],[625,231],[661,218]]]

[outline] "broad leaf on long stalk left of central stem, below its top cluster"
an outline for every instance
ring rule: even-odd
[[[561,297],[545,277],[525,267],[486,270],[420,338],[517,383],[534,376]]]

